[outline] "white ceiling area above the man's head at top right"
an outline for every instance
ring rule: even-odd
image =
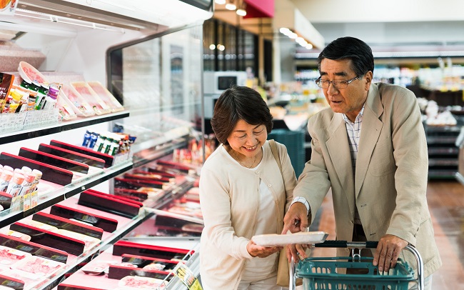
[[[280,0],[276,0],[280,1]],[[326,43],[355,36],[373,50],[460,50],[464,46],[464,1],[291,0]]]

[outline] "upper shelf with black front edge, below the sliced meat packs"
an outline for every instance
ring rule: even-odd
[[[39,136],[60,133],[63,131],[77,129],[94,124],[106,123],[108,121],[126,118],[127,116],[129,116],[128,111],[120,111],[117,113],[105,114],[101,116],[92,116],[72,121],[61,121],[53,125],[41,126],[35,129],[8,132],[0,135],[0,144],[8,144],[15,141],[22,141],[26,139],[36,138]]]

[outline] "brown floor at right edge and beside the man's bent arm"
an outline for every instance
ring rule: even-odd
[[[443,261],[433,274],[432,289],[464,290],[464,185],[458,181],[430,181],[427,199]],[[328,232],[328,239],[335,239],[330,194],[323,202],[319,223],[318,229]],[[326,256],[327,251],[316,248],[313,255]]]

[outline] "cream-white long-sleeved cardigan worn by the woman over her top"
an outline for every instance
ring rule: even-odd
[[[233,162],[219,146],[206,160],[200,174],[200,204],[205,227],[201,235],[201,281],[213,289],[237,289],[246,250],[253,236],[259,208],[260,179],[268,184],[276,202],[276,234],[281,234],[283,215],[293,199],[296,176],[286,146],[276,142],[282,171],[268,141],[261,164],[254,170]],[[285,187],[283,178],[285,180]]]

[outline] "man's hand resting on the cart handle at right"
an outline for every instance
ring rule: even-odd
[[[377,249],[375,250],[373,265],[378,265],[378,271],[385,271],[394,268],[400,256],[401,250],[408,246],[408,242],[387,234],[378,241]]]

